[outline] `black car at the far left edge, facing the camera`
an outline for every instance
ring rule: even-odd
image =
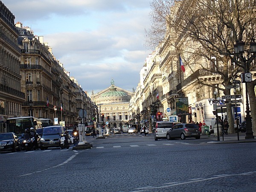
[[[0,134],[0,151],[20,151],[20,140],[15,133]]]

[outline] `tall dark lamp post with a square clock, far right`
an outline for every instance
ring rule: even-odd
[[[252,117],[250,116],[247,83],[252,81],[249,61],[250,60],[252,61],[253,58],[255,57],[256,43],[255,43],[254,39],[250,43],[250,51],[247,51],[247,60],[242,56],[245,52],[244,45],[245,44],[243,41],[236,42],[236,44],[234,45],[234,49],[235,49],[235,53],[238,56],[241,56],[241,60],[244,61],[244,73],[241,74],[241,80],[242,80],[242,83],[245,83],[245,96],[246,96],[246,111],[245,111],[245,113],[246,113],[246,117],[245,117],[246,136],[245,136],[245,139],[254,139],[253,131],[252,131]],[[249,58],[250,53],[253,53],[253,55]]]

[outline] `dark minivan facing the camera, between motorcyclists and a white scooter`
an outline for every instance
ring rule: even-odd
[[[61,125],[45,127],[40,139],[41,150],[48,147],[59,147],[60,134],[64,133],[64,128]]]

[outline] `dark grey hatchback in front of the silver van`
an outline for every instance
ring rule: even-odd
[[[174,138],[180,138],[181,140],[185,140],[186,137],[195,137],[196,139],[200,139],[200,136],[201,133],[199,131],[199,128],[194,123],[177,124],[166,133],[167,140],[171,140]]]

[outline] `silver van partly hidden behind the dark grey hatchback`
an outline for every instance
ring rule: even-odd
[[[156,123],[156,129],[154,132],[154,139],[157,141],[160,138],[166,138],[166,133],[174,126],[174,122],[159,121]]]

